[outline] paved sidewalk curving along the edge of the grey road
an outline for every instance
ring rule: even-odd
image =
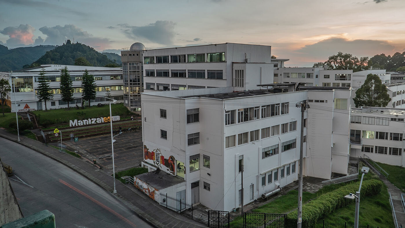
[[[0,129],[0,137],[17,142],[17,136]],[[17,142],[23,146],[31,148],[43,155],[50,157],[60,163],[72,168],[79,174],[82,174],[90,181],[98,184],[109,192],[113,192],[113,177],[106,174],[103,170],[99,170],[94,166],[82,161],[79,158],[73,157],[66,153],[62,153],[57,149],[45,146],[41,142],[20,136],[21,141]],[[160,206],[156,201],[151,200],[143,192],[124,185],[119,181],[115,181],[117,194],[114,194],[124,204],[126,204],[136,215],[149,222],[152,226],[158,228],[188,228],[188,227],[206,227],[203,224],[188,219],[178,213],[167,210]]]

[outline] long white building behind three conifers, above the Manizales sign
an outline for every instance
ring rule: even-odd
[[[38,101],[36,96],[38,88],[38,76],[41,69],[45,69],[45,75],[49,78],[49,86],[53,90],[53,99],[47,101],[47,108],[66,108],[67,102],[62,101],[60,97],[60,70],[65,65],[41,65],[40,67],[34,67],[29,69],[22,69],[15,72],[1,72],[2,75],[9,76],[9,82],[12,87],[11,92],[8,95],[8,99],[11,101],[11,110],[15,112],[15,101],[17,101],[17,111],[24,112],[28,110],[43,110],[45,109],[44,102]],[[123,100],[122,92],[122,68],[111,67],[87,67],[87,66],[70,66],[68,65],[68,71],[73,81],[73,96],[74,101],[70,102],[70,105],[78,104],[81,106],[81,79],[85,69],[89,74],[94,75],[94,79],[97,85],[96,99],[92,100],[93,105],[98,103],[108,103],[106,96],[106,89],[111,92],[111,97],[117,101]],[[15,87],[15,92],[14,92]],[[84,101],[85,103],[88,101]]]

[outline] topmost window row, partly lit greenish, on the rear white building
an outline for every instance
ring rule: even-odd
[[[171,56],[145,56],[144,64],[179,62],[225,62],[225,52],[206,54],[182,54]]]

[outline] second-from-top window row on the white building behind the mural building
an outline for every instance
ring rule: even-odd
[[[146,70],[145,77],[188,77],[206,79],[224,79],[222,70]]]

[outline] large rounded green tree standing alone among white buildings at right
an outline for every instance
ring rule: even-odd
[[[381,79],[375,74],[368,74],[364,84],[356,91],[353,101],[356,108],[360,106],[386,107],[391,98]]]

